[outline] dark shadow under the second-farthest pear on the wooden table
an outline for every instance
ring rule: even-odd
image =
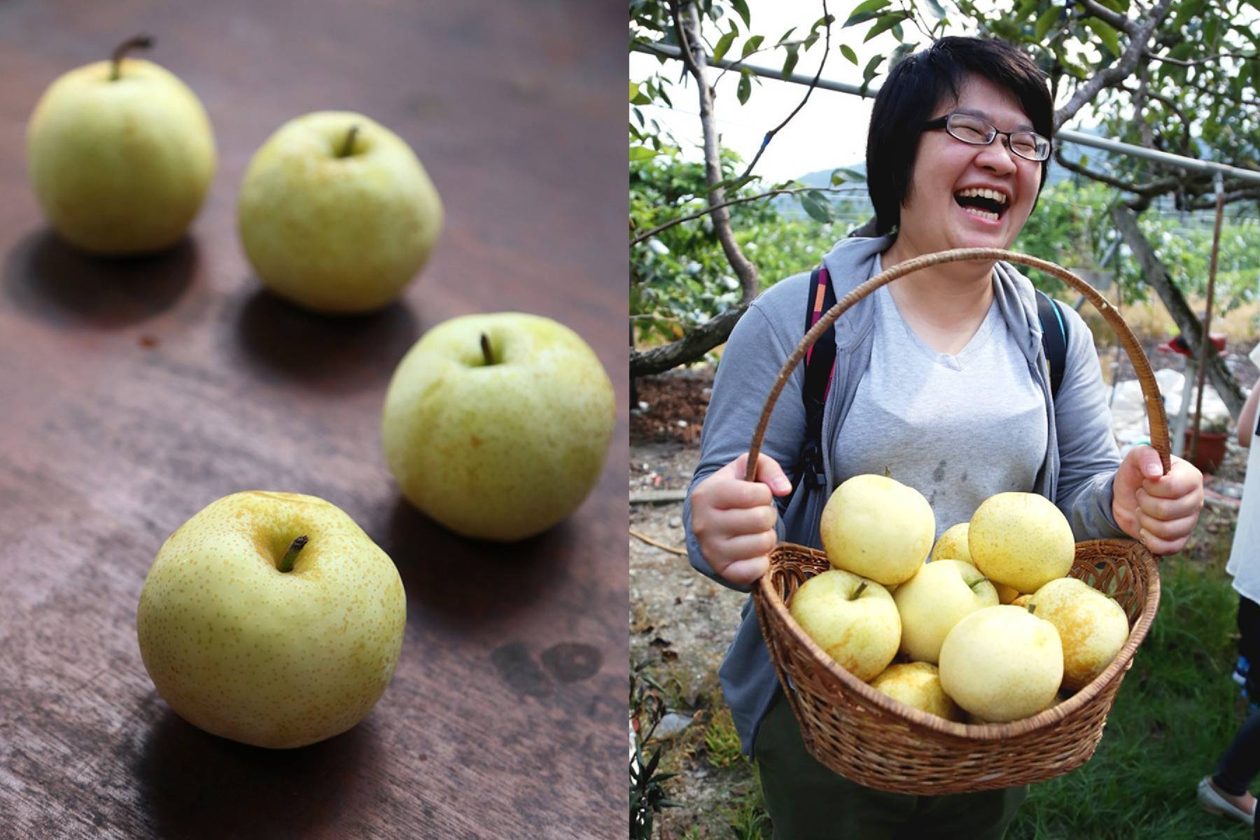
[[[241,309],[237,341],[265,374],[352,393],[383,388],[418,329],[401,302],[367,315],[318,315],[258,288]]]

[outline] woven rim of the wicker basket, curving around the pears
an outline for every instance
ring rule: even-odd
[[[1154,622],[1155,612],[1159,607],[1159,567],[1155,563],[1154,555],[1149,552],[1149,549],[1142,545],[1142,543],[1134,539],[1082,540],[1076,545],[1080,549],[1080,547],[1087,548],[1100,543],[1123,544],[1126,550],[1137,555],[1139,562],[1147,569],[1147,592],[1142,603],[1142,613],[1129,630],[1129,639],[1120,649],[1120,652],[1115,655],[1115,659],[1111,660],[1102,673],[1090,680],[1089,684],[1082,686],[1072,696],[1055,707],[1051,707],[1050,709],[1038,712],[1029,718],[1022,718],[1009,723],[974,724],[946,720],[945,718],[916,709],[902,703],[901,700],[891,698],[883,691],[871,688],[869,684],[853,676],[853,674],[842,667],[834,659],[828,656],[827,652],[823,651],[823,649],[805,633],[801,626],[796,623],[796,620],[793,618],[791,613],[788,611],[788,606],[784,603],[784,599],[779,596],[779,591],[771,583],[771,574],[769,570],[757,579],[756,587],[759,594],[761,596],[761,603],[775,612],[780,623],[788,628],[789,633],[791,633],[793,641],[809,651],[814,664],[829,673],[830,676],[840,683],[845,690],[861,695],[863,700],[876,705],[882,712],[896,715],[915,727],[963,741],[1002,741],[1012,737],[1027,735],[1028,733],[1037,732],[1038,729],[1052,727],[1090,703],[1113,680],[1119,679],[1120,675],[1133,665],[1133,657],[1137,654],[1138,647],[1150,631],[1150,625]],[[825,558],[825,554],[823,554],[819,549],[805,545],[779,543],[779,545],[775,547],[775,550],[779,550],[780,548],[808,552]]]

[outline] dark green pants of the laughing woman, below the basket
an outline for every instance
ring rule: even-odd
[[[775,840],[1000,840],[1028,787],[950,796],[886,793],[823,767],[781,694],[761,722],[757,772]]]

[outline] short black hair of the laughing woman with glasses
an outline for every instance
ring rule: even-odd
[[[1011,44],[949,37],[907,55],[879,88],[867,132],[867,191],[881,236],[901,223],[901,205],[910,194],[922,125],[932,118],[941,102],[958,98],[968,76],[1011,91],[1032,120],[1033,131],[1055,139],[1055,103],[1046,74]],[[1050,160],[1042,161],[1038,195],[1048,169]]]

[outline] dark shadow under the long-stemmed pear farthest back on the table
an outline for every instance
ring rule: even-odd
[[[43,228],[9,252],[4,288],[18,310],[59,327],[116,330],[174,306],[198,258],[192,237],[146,257],[94,257]]]

